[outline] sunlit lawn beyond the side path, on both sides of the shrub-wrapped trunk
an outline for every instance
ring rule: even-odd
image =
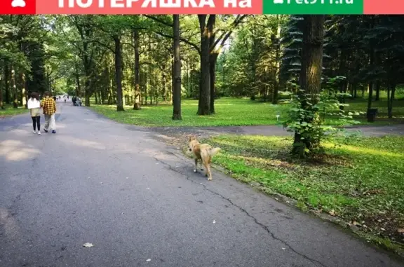
[[[366,111],[365,99],[349,101],[346,111]],[[393,107],[393,120],[386,118],[386,100],[373,103],[379,108],[377,121],[374,125],[386,125],[404,121],[404,100],[396,100]],[[142,110],[135,111],[131,106],[125,112],[116,112],[115,105],[92,104],[91,108],[100,114],[112,118],[120,123],[159,127],[159,126],[242,126],[242,125],[275,125],[276,115],[284,121],[288,116],[288,106],[284,104],[272,105],[268,102],[251,101],[249,99],[221,98],[215,102],[216,114],[212,116],[197,116],[197,100],[182,100],[182,121],[173,121],[173,107],[170,104],[143,106]],[[356,118],[363,124],[365,116]],[[326,118],[326,124],[338,125],[338,121]]]

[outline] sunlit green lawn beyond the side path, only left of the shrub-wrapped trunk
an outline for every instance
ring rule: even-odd
[[[264,102],[253,102],[246,99],[222,98],[215,102],[216,114],[197,116],[197,100],[182,100],[182,121],[173,121],[173,106],[159,104],[143,106],[135,111],[127,106],[125,112],[116,112],[116,106],[92,104],[91,108],[100,114],[120,123],[143,126],[241,126],[241,125],[274,125],[276,114],[285,116],[285,106]]]

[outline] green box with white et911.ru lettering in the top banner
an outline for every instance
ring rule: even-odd
[[[363,14],[363,0],[263,0],[264,14]]]

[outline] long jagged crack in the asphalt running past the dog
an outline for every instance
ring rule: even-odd
[[[172,153],[172,152],[169,152],[169,153]],[[175,153],[172,153],[172,154],[177,157],[177,155],[175,155]],[[154,158],[156,161],[158,161],[159,163],[161,163],[162,165],[168,167],[169,170],[172,170],[173,172],[177,172],[177,173],[181,174],[182,176],[186,177],[186,179],[187,179],[189,182],[192,182],[192,183],[194,183],[194,184],[200,184],[200,185],[203,186],[203,188],[204,188],[206,191],[209,191],[210,193],[213,193],[214,195],[219,196],[220,198],[222,198],[222,199],[224,199],[224,200],[227,200],[227,202],[229,202],[232,206],[237,207],[238,210],[241,210],[241,212],[243,212],[243,213],[246,214],[248,217],[250,217],[251,219],[253,219],[254,222],[255,222],[255,224],[257,224],[258,226],[261,226],[261,228],[263,228],[265,231],[267,231],[267,233],[269,233],[269,235],[271,235],[271,238],[273,238],[274,240],[278,240],[279,242],[282,242],[286,247],[288,247],[288,248],[289,248],[292,252],[294,252],[295,254],[297,254],[297,255],[299,255],[299,256],[302,256],[304,259],[307,259],[307,260],[309,260],[309,261],[311,261],[311,262],[313,262],[313,263],[318,263],[318,264],[320,264],[320,265],[323,266],[323,267],[327,267],[327,266],[325,266],[325,264],[322,263],[321,261],[318,261],[318,260],[316,260],[316,259],[311,259],[309,256],[304,255],[304,254],[302,254],[302,253],[300,253],[300,252],[297,252],[297,251],[296,251],[294,248],[292,248],[292,246],[289,245],[288,242],[286,242],[285,240],[282,240],[281,238],[277,238],[277,237],[274,235],[274,233],[272,233],[272,232],[269,230],[269,227],[268,227],[268,226],[266,226],[266,225],[260,223],[260,221],[258,221],[257,218],[255,218],[253,215],[251,215],[250,213],[248,213],[248,211],[245,210],[243,207],[240,207],[240,206],[234,204],[233,201],[231,201],[229,198],[226,198],[225,196],[222,196],[220,193],[217,193],[217,192],[215,192],[215,191],[212,191],[212,190],[208,189],[205,184],[201,184],[201,183],[195,182],[194,180],[191,179],[190,175],[184,174],[184,173],[180,172],[180,170],[176,170],[176,169],[173,168],[170,164],[164,162],[163,160],[160,160],[159,158],[156,158],[156,156],[154,156],[153,158]],[[177,158],[178,158],[178,157],[177,157]]]

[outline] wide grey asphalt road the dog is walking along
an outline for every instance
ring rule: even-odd
[[[208,182],[154,132],[58,113],[56,135],[0,120],[1,267],[404,266],[219,172]]]

